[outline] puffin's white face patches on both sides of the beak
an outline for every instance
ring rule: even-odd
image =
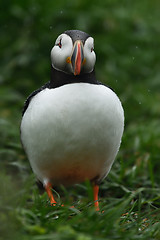
[[[73,48],[74,46],[71,37],[65,33],[61,34],[56,39],[55,46],[51,50],[51,62],[53,68],[62,72],[73,73],[71,64]],[[94,40],[92,37],[86,39],[83,46],[83,54],[84,60],[82,62],[81,72],[92,72],[96,61]]]

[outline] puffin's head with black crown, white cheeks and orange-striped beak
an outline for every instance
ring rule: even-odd
[[[94,39],[79,30],[59,35],[51,50],[52,67],[67,74],[90,73],[95,61]]]

